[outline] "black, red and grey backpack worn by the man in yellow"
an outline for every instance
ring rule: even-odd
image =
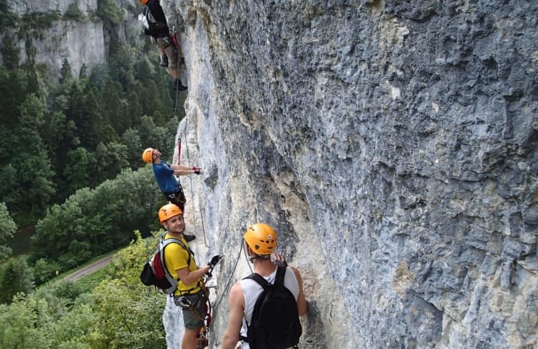
[[[191,255],[193,255],[193,253],[191,249],[188,246],[185,246],[181,240],[174,238],[168,238],[165,240],[164,235],[166,235],[166,232],[164,232],[163,235],[161,235],[161,239],[159,239],[159,243],[157,244],[157,252],[155,252],[151,260],[145,263],[142,272],[140,273],[140,281],[142,281],[144,285],[155,286],[155,288],[158,288],[166,295],[173,295],[179,280],[174,279],[164,265],[164,248],[168,246],[168,244],[180,244],[182,248],[189,252],[187,265],[191,264]]]

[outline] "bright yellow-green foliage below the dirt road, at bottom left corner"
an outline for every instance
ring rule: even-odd
[[[91,293],[58,281],[0,304],[0,348],[163,348],[160,319],[166,297],[138,280],[157,235],[119,251]],[[156,320],[157,319],[157,320]]]

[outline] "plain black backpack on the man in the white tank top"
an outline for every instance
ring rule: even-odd
[[[271,285],[259,274],[252,279],[263,287],[247,329],[251,349],[284,349],[297,346],[303,329],[300,326],[297,302],[293,293],[284,286],[286,267],[277,267],[275,283]]]

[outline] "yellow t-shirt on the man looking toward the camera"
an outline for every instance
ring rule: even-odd
[[[171,238],[170,235],[168,235],[168,232],[166,235],[164,235],[164,239]],[[187,241],[181,237],[180,241],[187,247],[189,247],[189,244],[187,244]],[[168,269],[168,272],[174,279],[179,279],[177,276],[177,269],[183,269],[184,267],[187,267],[187,260],[189,260],[189,251],[184,249],[180,244],[168,244],[164,248],[164,264],[166,265],[166,269]],[[194,260],[194,255],[191,255],[191,262],[189,264],[189,271],[194,272],[194,270],[197,270],[198,267],[196,267],[196,261]],[[199,281],[199,280],[198,280]],[[198,281],[195,281],[194,283],[191,283],[189,285],[185,285],[181,280],[179,283],[177,283],[177,290],[175,290],[174,295],[181,295],[185,291],[189,291],[189,293],[196,293],[200,290],[200,287],[197,286]]]

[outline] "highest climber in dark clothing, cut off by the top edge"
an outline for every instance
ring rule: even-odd
[[[138,18],[143,22],[144,34],[150,36],[152,43],[157,46],[161,57],[161,66],[168,67],[168,73],[174,79],[175,89],[179,91],[186,90],[187,87],[179,79],[179,66],[181,64],[179,43],[177,43],[177,40],[170,38],[170,29],[161,3],[159,0],[138,1],[144,5],[142,14]],[[175,34],[173,34],[173,37],[175,37]]]

